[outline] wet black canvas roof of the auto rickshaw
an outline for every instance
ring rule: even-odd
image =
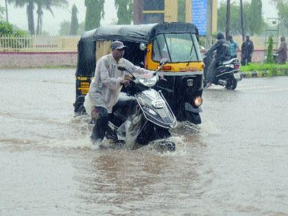
[[[128,40],[148,43],[158,34],[191,32],[198,35],[192,23],[154,23],[143,25],[105,25],[85,32],[80,40]]]

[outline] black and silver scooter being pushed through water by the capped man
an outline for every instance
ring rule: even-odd
[[[161,62],[160,68],[165,62]],[[158,144],[160,147],[173,152],[175,143],[169,141],[169,129],[176,128],[177,120],[161,91],[152,88],[159,77],[135,77],[128,68],[118,67],[127,71],[132,76],[130,84],[121,92],[117,104],[113,107],[106,139],[123,143],[132,149],[134,143],[147,145],[151,141],[163,139]]]

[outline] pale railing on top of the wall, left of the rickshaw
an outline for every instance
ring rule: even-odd
[[[77,51],[80,36],[0,36],[0,51]]]

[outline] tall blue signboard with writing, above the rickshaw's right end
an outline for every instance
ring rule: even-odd
[[[192,23],[198,28],[200,36],[206,35],[207,0],[191,0]]]

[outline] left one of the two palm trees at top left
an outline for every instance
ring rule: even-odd
[[[8,0],[8,3],[14,3],[17,7],[24,7],[27,5],[27,19],[28,19],[28,29],[30,34],[35,34],[34,25],[34,0]]]

